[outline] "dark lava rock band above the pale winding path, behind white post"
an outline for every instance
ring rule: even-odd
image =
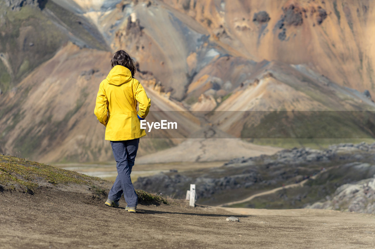
[[[375,174],[374,154],[375,143],[365,142],[331,145],[325,150],[293,148],[279,151],[272,156],[232,159],[221,167],[203,170],[201,173],[195,170],[181,173],[172,170],[158,175],[139,177],[133,185],[145,191],[161,193],[173,198],[184,198],[190,184],[196,184],[197,199],[200,199],[201,204],[210,205],[214,202],[220,203],[223,196],[225,198],[231,194],[241,196],[242,192],[254,193],[254,191],[276,188],[288,182],[309,179],[319,172],[322,173],[319,177],[335,176],[336,179],[340,179],[343,173],[350,172],[349,178],[340,180],[341,184],[366,179]],[[330,168],[332,164],[340,168]],[[310,166],[314,166],[315,169],[310,169]],[[323,181],[322,186],[326,184],[325,182]],[[339,185],[334,187],[337,188]],[[321,197],[332,194],[330,191],[323,192],[319,192]],[[293,206],[296,204],[302,207],[302,204],[298,203],[305,199],[306,193],[288,196],[288,202]],[[351,208],[357,210],[362,207],[352,205]]]

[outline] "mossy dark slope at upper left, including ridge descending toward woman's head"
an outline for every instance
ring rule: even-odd
[[[72,34],[89,47],[109,50],[101,33],[86,18],[69,12],[53,1],[48,1],[45,8],[48,12],[29,5],[23,6],[19,11],[11,11],[5,4],[0,4],[0,13],[4,13],[0,52],[9,55],[14,75],[9,83],[9,76],[3,76],[6,68],[4,70],[0,65],[1,88],[9,89],[4,86],[4,82],[18,83],[38,65],[52,58]]]

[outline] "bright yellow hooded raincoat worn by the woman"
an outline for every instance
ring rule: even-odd
[[[106,127],[105,140],[121,141],[145,136],[137,114],[144,119],[150,105],[151,100],[139,81],[132,78],[130,70],[121,65],[114,66],[100,83],[94,111],[99,122]]]

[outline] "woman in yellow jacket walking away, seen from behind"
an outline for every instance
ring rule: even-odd
[[[106,127],[105,140],[111,141],[117,163],[118,175],[105,205],[118,207],[121,194],[124,194],[126,210],[135,213],[138,196],[130,173],[138,150],[139,138],[146,135],[140,127],[139,120],[147,116],[151,100],[138,80],[133,78],[136,71],[135,63],[127,52],[118,50],[113,55],[111,66],[107,78],[100,83],[94,111],[99,122]]]

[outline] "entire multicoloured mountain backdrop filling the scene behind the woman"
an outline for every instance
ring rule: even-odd
[[[372,11],[354,0],[1,2],[0,150],[111,159],[92,110],[121,48],[152,99],[148,120],[181,127],[150,133],[140,154],[204,139],[207,126],[287,147],[374,138]],[[292,112],[323,110],[334,112]]]

